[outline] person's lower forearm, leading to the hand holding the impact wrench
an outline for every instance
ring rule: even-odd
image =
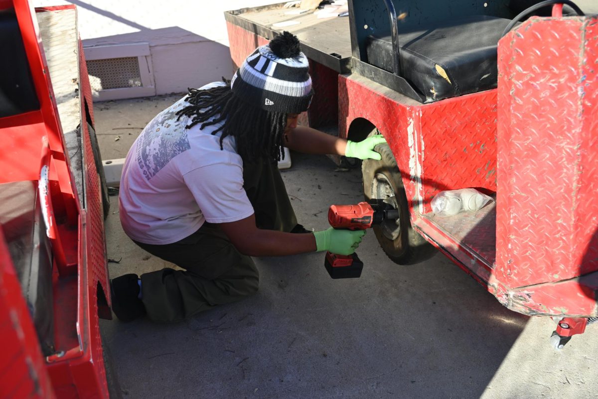
[[[311,233],[284,233],[257,229],[255,234],[237,244],[237,250],[248,256],[285,256],[316,250],[316,239]]]

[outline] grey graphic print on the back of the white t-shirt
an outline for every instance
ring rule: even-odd
[[[187,116],[176,120],[176,112],[187,105],[184,99],[158,113],[142,131],[137,143],[136,159],[145,179],[155,176],[170,159],[191,148],[187,137]]]

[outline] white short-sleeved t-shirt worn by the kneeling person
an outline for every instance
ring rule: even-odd
[[[202,89],[224,85],[205,85]],[[127,154],[120,179],[119,213],[130,238],[145,244],[170,244],[193,234],[207,220],[235,222],[254,213],[243,189],[243,161],[234,137],[221,126],[185,128],[176,120],[184,98],[149,122]]]

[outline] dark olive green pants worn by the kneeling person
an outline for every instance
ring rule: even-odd
[[[258,228],[288,232],[297,225],[276,163],[245,163],[243,181]],[[135,243],[185,269],[165,268],[141,275],[142,301],[153,321],[181,321],[258,290],[260,275],[254,261],[240,253],[218,225],[206,222],[173,244]]]

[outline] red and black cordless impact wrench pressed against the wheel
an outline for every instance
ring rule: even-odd
[[[376,201],[376,200],[374,200]],[[330,205],[328,222],[335,229],[365,230],[386,219],[398,219],[399,211],[382,201],[359,202],[356,205]],[[332,278],[361,277],[364,263],[356,253],[326,253],[324,266]]]

